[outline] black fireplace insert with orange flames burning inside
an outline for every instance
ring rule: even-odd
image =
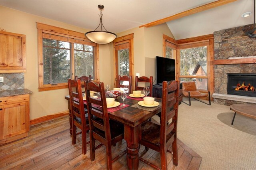
[[[228,94],[256,97],[256,74],[228,73]]]

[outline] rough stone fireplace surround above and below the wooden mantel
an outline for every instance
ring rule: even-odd
[[[256,38],[243,37],[252,30],[253,24],[214,32],[214,60],[229,60],[232,57],[256,56]],[[228,39],[228,40],[226,40]],[[236,103],[256,103],[256,98],[248,95],[228,94],[228,74],[255,74],[256,63],[214,65],[214,103],[232,105]]]

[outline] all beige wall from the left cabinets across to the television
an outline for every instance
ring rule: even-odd
[[[27,71],[24,74],[24,84],[25,88],[33,92],[30,96],[30,119],[36,119],[38,117],[68,110],[67,101],[64,99],[64,96],[68,95],[68,89],[38,91],[36,22],[82,33],[88,31],[62,22],[0,6],[0,27],[7,32],[26,35]],[[172,33],[166,24],[161,24],[152,28],[136,27],[118,33],[117,35],[120,37],[132,33],[134,33],[134,73],[140,73],[140,76],[153,75],[155,79],[154,58],[156,55],[162,56],[162,34],[173,38]],[[113,88],[115,79],[113,43],[99,45],[99,54],[100,81],[103,81],[104,84],[110,84],[112,86],[111,88]]]

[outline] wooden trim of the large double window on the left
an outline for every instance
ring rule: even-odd
[[[37,23],[38,29],[38,90],[39,91],[48,91],[56,89],[68,88],[68,83],[58,83],[56,85],[44,84],[44,65],[43,65],[43,38],[60,40],[70,43],[82,43],[85,45],[94,46],[94,80],[100,81],[99,79],[99,45],[97,43],[91,42],[84,36],[84,33],[75,32],[72,30],[66,30],[64,28],[59,28],[55,26],[50,26],[42,23]],[[73,46],[73,45],[72,45]],[[74,49],[71,47],[70,51]],[[71,53],[70,56],[70,70],[74,73],[74,56]],[[72,79],[74,79],[74,74]]]

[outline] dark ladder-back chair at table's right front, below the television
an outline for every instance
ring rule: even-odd
[[[177,148],[177,120],[178,120],[178,106],[179,106],[179,90],[180,81],[163,82],[162,90],[162,111],[160,118],[160,125],[145,121],[142,123],[142,138],[140,144],[160,152],[161,168],[144,160],[140,160],[156,169],[167,169],[166,151],[172,146],[173,164],[178,165],[178,148]],[[169,124],[168,121],[172,119]]]

